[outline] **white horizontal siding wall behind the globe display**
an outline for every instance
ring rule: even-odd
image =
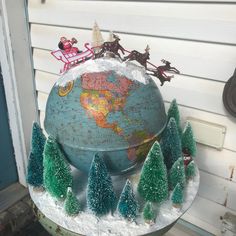
[[[60,36],[76,37],[82,48],[91,39],[94,20],[119,32],[127,49],[143,51],[151,61],[169,59],[183,73],[160,88],[166,107],[176,98],[182,119],[191,116],[227,127],[222,151],[198,145],[201,185],[183,219],[220,234],[220,217],[236,213],[236,119],[222,103],[225,82],[236,67],[236,2],[228,1],[53,1],[29,0],[29,20],[40,119],[62,64],[50,54]]]

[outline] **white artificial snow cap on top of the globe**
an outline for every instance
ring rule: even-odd
[[[76,80],[84,73],[104,71],[115,71],[119,75],[142,84],[147,84],[150,80],[150,76],[146,74],[145,69],[132,62],[121,62],[118,58],[100,58],[86,61],[71,68],[58,79],[56,85],[65,86],[69,81]]]

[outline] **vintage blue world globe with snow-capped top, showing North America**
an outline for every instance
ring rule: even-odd
[[[119,175],[140,166],[166,120],[160,91],[144,68],[102,58],[58,79],[44,125],[73,166],[88,172],[98,153],[109,172]]]

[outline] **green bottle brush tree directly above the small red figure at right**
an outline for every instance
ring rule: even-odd
[[[183,152],[190,156],[196,156],[196,142],[194,140],[191,124],[187,122],[182,134],[182,149]]]

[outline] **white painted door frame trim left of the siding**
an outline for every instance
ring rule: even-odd
[[[0,62],[19,182],[25,172],[31,126],[38,120],[26,0],[0,0]]]

